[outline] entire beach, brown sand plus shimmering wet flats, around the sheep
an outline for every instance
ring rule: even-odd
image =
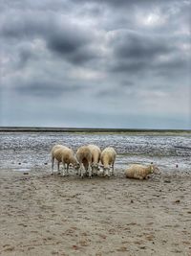
[[[191,255],[190,133],[2,132],[0,139],[0,255]],[[115,176],[51,175],[53,145],[76,151],[88,143],[117,150]],[[160,175],[124,177],[129,164],[151,161]]]

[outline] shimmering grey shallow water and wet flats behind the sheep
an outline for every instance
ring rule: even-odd
[[[129,135],[126,133],[1,132],[0,169],[51,169],[50,151],[64,144],[74,151],[85,144],[117,151],[116,167],[123,172],[131,163],[154,162],[163,171],[191,172],[191,134]],[[179,165],[177,168],[176,165]]]

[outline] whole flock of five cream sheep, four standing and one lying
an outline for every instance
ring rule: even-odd
[[[62,175],[68,175],[70,165],[73,166],[76,174],[80,177],[88,175],[111,176],[115,175],[114,164],[117,152],[112,147],[107,147],[103,151],[96,145],[81,146],[76,153],[66,146],[55,145],[51,151],[52,155],[52,175],[54,159],[57,160],[57,172],[60,173],[59,165],[63,164]],[[101,163],[101,164],[100,164]],[[144,179],[148,175],[159,173],[159,168],[150,164],[149,166],[132,164],[125,170],[125,176],[130,178]]]

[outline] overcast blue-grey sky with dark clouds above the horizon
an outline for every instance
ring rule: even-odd
[[[0,0],[0,126],[191,128],[191,0]]]

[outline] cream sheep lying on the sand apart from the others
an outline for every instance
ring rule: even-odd
[[[125,171],[125,175],[126,177],[130,177],[130,178],[147,179],[148,175],[153,173],[158,173],[158,172],[159,172],[159,168],[157,166],[154,166],[153,164],[150,164],[150,165],[132,164]]]

